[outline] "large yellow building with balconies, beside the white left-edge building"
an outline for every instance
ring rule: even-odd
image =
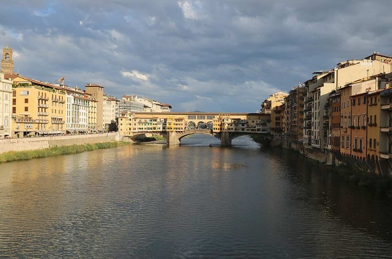
[[[13,83],[13,135],[65,133],[65,91],[58,86],[20,75],[7,75]]]

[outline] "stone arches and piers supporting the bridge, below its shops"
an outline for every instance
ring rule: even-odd
[[[270,133],[260,133],[260,132],[229,132],[223,131],[219,133],[213,133],[212,130],[200,130],[200,129],[192,129],[192,130],[184,130],[184,131],[146,131],[146,132],[138,132],[131,136],[132,139],[144,135],[146,133],[151,133],[154,135],[161,135],[166,138],[166,143],[168,145],[178,145],[181,144],[181,138],[192,135],[192,134],[206,134],[212,137],[216,137],[220,139],[221,146],[231,146],[231,141],[234,138],[238,138],[245,135],[257,134],[263,135],[266,141],[270,141],[271,135]]]

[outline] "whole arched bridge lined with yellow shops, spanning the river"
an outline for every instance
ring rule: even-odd
[[[206,134],[230,146],[234,138],[261,134],[270,140],[270,114],[264,113],[150,113],[128,112],[119,117],[120,135],[135,139],[151,133],[166,139],[168,145],[181,143],[191,134]]]

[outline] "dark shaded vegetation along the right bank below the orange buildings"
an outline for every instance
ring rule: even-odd
[[[392,197],[392,180],[381,178],[374,173],[349,167],[348,165],[338,165],[332,167],[332,171],[338,173],[345,180],[356,185],[374,189],[377,192],[387,194]]]

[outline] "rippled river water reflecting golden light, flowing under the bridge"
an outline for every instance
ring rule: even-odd
[[[392,257],[392,202],[249,137],[0,164],[0,257]]]

